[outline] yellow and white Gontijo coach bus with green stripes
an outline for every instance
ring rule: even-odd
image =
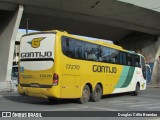
[[[20,41],[18,92],[52,99],[99,101],[102,95],[146,89],[141,54],[53,30]]]

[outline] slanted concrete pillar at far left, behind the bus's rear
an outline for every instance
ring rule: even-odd
[[[0,91],[10,89],[11,71],[16,35],[22,18],[24,7],[19,5],[10,21],[0,31]]]

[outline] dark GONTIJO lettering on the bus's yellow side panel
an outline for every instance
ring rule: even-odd
[[[93,72],[103,72],[103,73],[116,73],[116,67],[110,66],[101,66],[101,65],[93,65],[92,67]]]

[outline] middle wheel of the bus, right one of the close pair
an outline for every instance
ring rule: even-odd
[[[101,99],[101,96],[102,96],[102,88],[99,84],[97,84],[94,91],[91,93],[90,99],[93,102],[97,102]]]

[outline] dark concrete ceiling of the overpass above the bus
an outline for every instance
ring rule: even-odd
[[[20,28],[58,29],[72,34],[121,40],[134,31],[160,33],[160,13],[117,0],[0,0],[0,10],[24,5]]]

